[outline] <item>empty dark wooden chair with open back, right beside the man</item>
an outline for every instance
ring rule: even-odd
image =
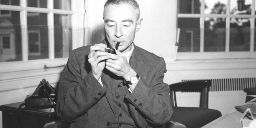
[[[179,122],[184,124],[186,128],[200,128],[222,116],[220,111],[208,108],[209,88],[211,86],[211,80],[190,80],[170,84],[170,98],[174,110],[170,122]],[[201,92],[200,107],[178,107],[176,91]],[[175,126],[166,126],[166,128],[175,128]]]

